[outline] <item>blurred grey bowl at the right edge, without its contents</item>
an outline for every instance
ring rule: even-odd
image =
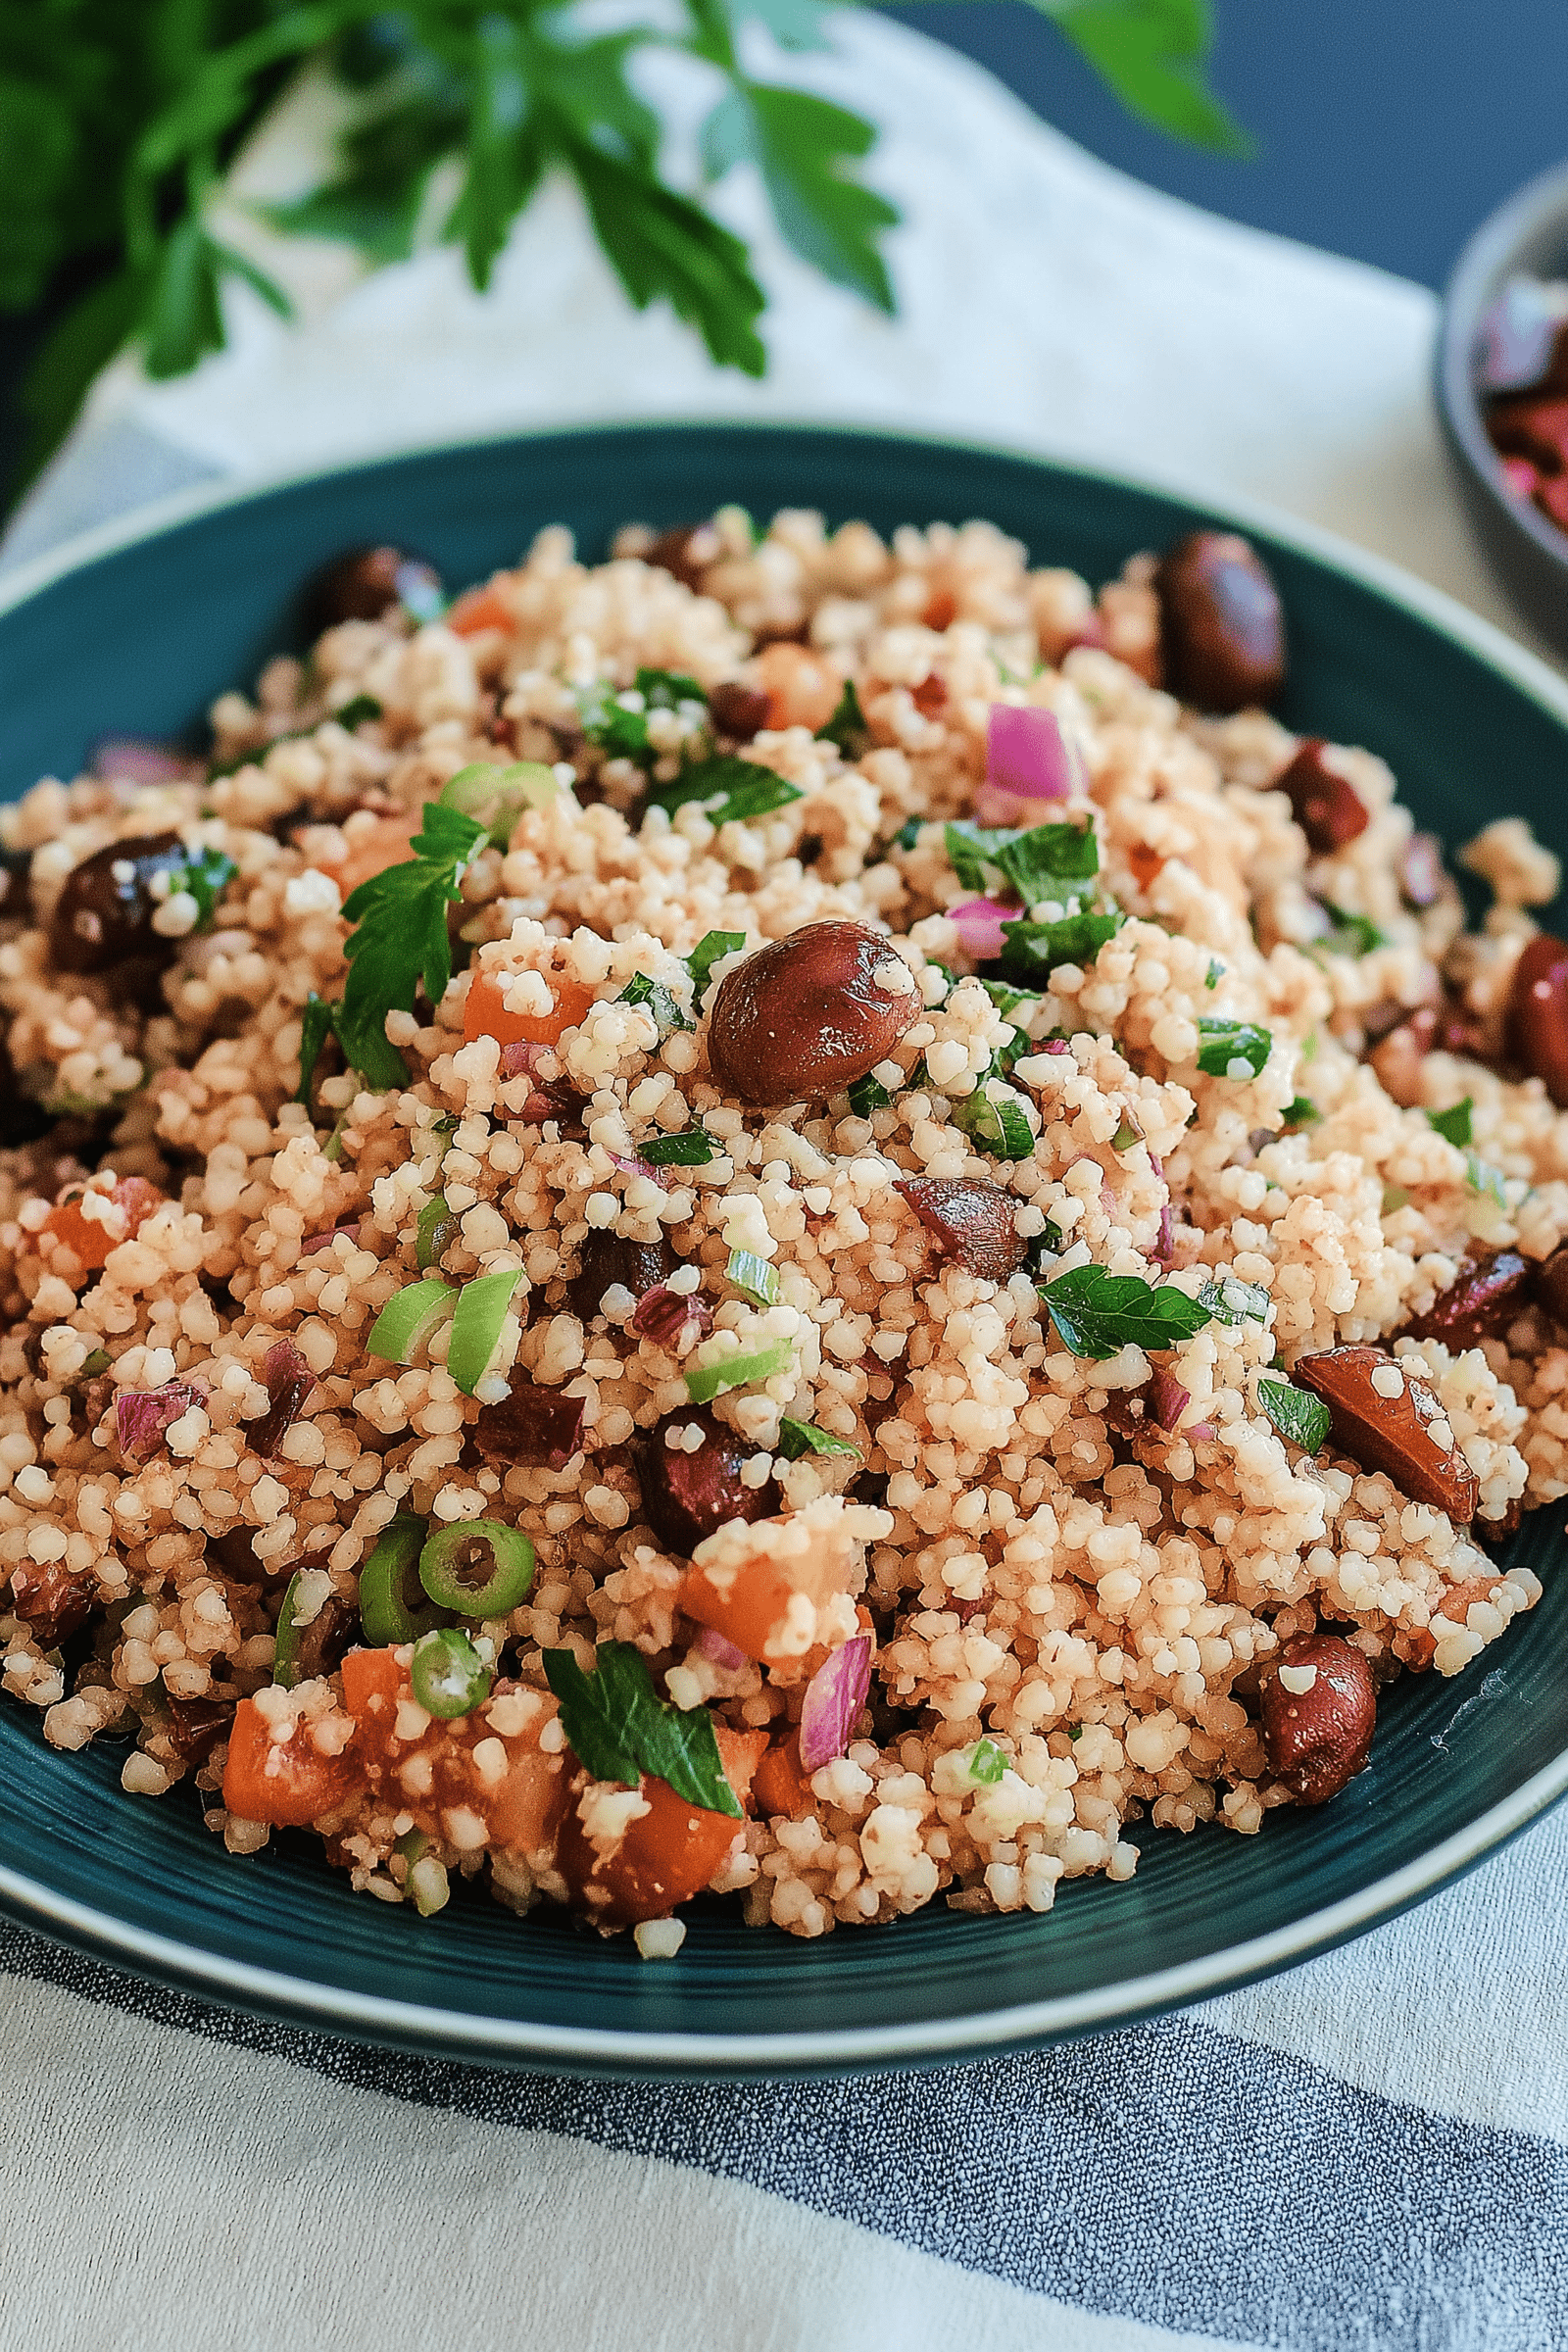
[[[1481,322],[1509,278],[1568,278],[1568,165],[1500,205],[1460,252],[1436,346],[1436,402],[1453,470],[1493,569],[1519,609],[1568,654],[1568,534],[1509,489],[1476,388]]]

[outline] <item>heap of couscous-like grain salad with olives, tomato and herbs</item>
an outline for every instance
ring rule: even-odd
[[[353,550],[0,816],[0,1644],[61,1750],[644,1955],[1048,1910],[1458,1675],[1568,1491],[1568,946],[1274,583],[729,508]]]

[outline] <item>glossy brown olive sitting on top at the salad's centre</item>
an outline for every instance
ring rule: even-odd
[[[724,974],[708,1063],[743,1103],[811,1103],[886,1061],[919,1011],[914,976],[879,931],[809,922]]]

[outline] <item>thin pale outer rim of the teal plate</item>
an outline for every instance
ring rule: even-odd
[[[482,449],[517,449],[557,440],[604,440],[635,442],[663,433],[712,433],[724,430],[745,437],[769,437],[778,433],[856,437],[893,447],[929,449],[933,456],[990,456],[1025,463],[1056,475],[1072,475],[1105,489],[1154,494],[1199,506],[1218,522],[1237,529],[1265,534],[1279,546],[1305,555],[1326,569],[1347,574],[1375,590],[1394,607],[1429,623],[1439,635],[1458,642],[1488,668],[1519,687],[1530,701],[1542,706],[1568,731],[1568,682],[1547,661],[1509,637],[1497,623],[1469,612],[1443,588],[1434,588],[1413,572],[1385,555],[1361,548],[1324,524],[1307,522],[1244,494],[1211,494],[1204,485],[1173,475],[1124,473],[1112,466],[1084,463],[1072,456],[1048,456],[1009,442],[969,437],[954,433],[919,433],[900,426],[860,423],[858,419],[830,421],[823,416],[656,416],[656,419],[590,419],[567,426],[541,426],[534,430],[480,433],[465,437],[437,437],[411,442],[376,456],[334,466],[282,468],[266,475],[226,475],[219,482],[200,482],[136,506],[125,515],[73,532],[56,548],[28,557],[0,572],[0,619],[31,597],[59,586],[71,574],[89,564],[155,541],[186,522],[207,515],[261,503],[280,492],[329,485],[350,475],[390,470],[407,461],[435,459],[442,454],[465,454]],[[282,2016],[299,2025],[327,2027],[357,2039],[378,2039],[416,2049],[442,2049],[447,2056],[465,2060],[512,2063],[512,2065],[578,2065],[621,2074],[766,2074],[766,2072],[846,2072],[856,2065],[898,2063],[957,2063],[980,2058],[1023,2044],[1046,2042],[1065,2034],[1091,2032],[1095,2027],[1126,2025],[1194,1999],[1234,1990],[1262,1976],[1272,1976],[1291,1964],[1326,1952],[1352,1936],[1363,1933],[1382,1919],[1396,1917],[1425,1896],[1474,1867],[1497,1851],[1549,1806],[1568,1795],[1568,1745],[1509,1797],[1488,1806],[1467,1828],[1439,1839],[1425,1853],[1399,1870],[1373,1879],[1354,1896],[1345,1896],[1324,1910],[1309,1912],[1265,1936],[1253,1936],[1239,1945],[1225,1945],[1201,1959],[1171,1969],[1154,1969],[1121,1978],[1114,1985],[1091,1987],[1074,1994],[1056,1994],[1039,2002],[1013,2004],[1011,2009],[976,2011],[959,2018],[924,2018],[914,2023],[778,2032],[778,2034],[717,2034],[717,2032],[616,2032],[585,2025],[550,2025],[522,2018],[480,2016],[454,2009],[437,2009],[421,2002],[400,2002],[386,1994],[348,1992],[322,1985],[315,1978],[287,1976],[252,1962],[228,1959],[179,1943],[172,1936],[150,1933],[113,1915],[56,1893],[21,1870],[0,1863],[0,1910],[12,1919],[42,1929],[78,1950],[89,1950],[108,1962],[129,1966],[139,1976],[150,1976],[181,1990],[209,1992],[230,2006]]]

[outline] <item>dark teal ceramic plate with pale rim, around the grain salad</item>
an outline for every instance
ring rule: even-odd
[[[512,562],[543,522],[585,555],[637,515],[738,499],[839,522],[987,515],[1037,562],[1105,579],[1133,548],[1234,520],[1291,616],[1286,717],[1380,750],[1450,842],[1505,809],[1568,847],[1568,689],[1429,588],[1279,517],[1215,517],[1131,482],[867,433],[651,426],[437,449],[183,499],[78,541],[0,595],[0,790],[73,774],[113,734],[172,734],[292,640],[292,590],[327,555],[400,539],[451,581]],[[353,1896],[303,1839],[230,1860],[188,1792],[120,1790],[122,1752],[42,1745],[0,1700],[0,1905],[120,1966],[362,2039],[628,2074],[863,2070],[980,2056],[1124,2023],[1302,1959],[1476,1863],[1568,1788],[1561,1512],[1516,1555],[1544,1599],[1458,1682],[1385,1700],[1373,1766],[1260,1837],[1135,1828],[1138,1875],[1006,1919],[919,1912],[797,1943],[696,1905],[675,1962],[564,1919],[463,1898],[435,1922]]]

